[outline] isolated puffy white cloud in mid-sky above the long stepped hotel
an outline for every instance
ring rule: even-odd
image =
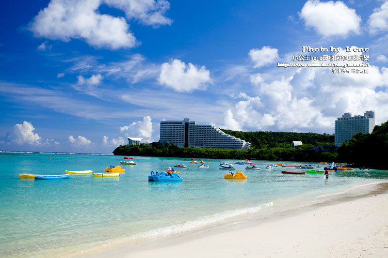
[[[194,64],[186,65],[177,59],[162,64],[158,81],[175,91],[205,89],[206,84],[212,83],[210,71],[205,66],[197,69]]]

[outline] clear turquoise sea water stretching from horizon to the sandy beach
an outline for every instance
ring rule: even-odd
[[[50,159],[51,158],[51,159]],[[373,182],[387,182],[386,170],[352,170],[285,175],[289,167],[266,169],[270,161],[252,161],[261,170],[237,165],[246,181],[225,180],[215,160],[209,168],[190,158],[133,157],[136,166],[120,165],[123,156],[98,154],[0,152],[0,257],[82,255],[114,243],[158,237],[206,226],[244,214],[260,214],[287,202],[318,201],[323,195]],[[148,182],[150,171],[176,168],[183,182]],[[283,162],[304,165],[304,162]],[[121,166],[118,178],[72,175],[64,180],[20,179],[18,174],[65,174]],[[316,164],[312,164],[316,165]]]

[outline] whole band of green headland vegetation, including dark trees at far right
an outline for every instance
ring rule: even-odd
[[[123,145],[114,155],[160,156],[184,158],[252,159],[306,162],[344,162],[354,167],[388,169],[388,121],[375,126],[372,134],[358,133],[333,152],[313,151],[314,147],[334,144],[334,135],[314,133],[239,132],[223,130],[251,143],[249,150],[179,148],[175,144],[153,142],[150,145]],[[293,140],[303,145],[291,149]]]

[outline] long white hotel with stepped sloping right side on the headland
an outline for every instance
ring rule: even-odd
[[[230,136],[214,125],[195,124],[185,118],[182,121],[161,121],[160,143],[178,147],[249,149],[249,142]]]

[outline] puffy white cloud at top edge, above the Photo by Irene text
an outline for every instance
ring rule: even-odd
[[[342,1],[308,0],[299,16],[305,20],[307,27],[314,28],[324,37],[360,33],[361,17]]]

